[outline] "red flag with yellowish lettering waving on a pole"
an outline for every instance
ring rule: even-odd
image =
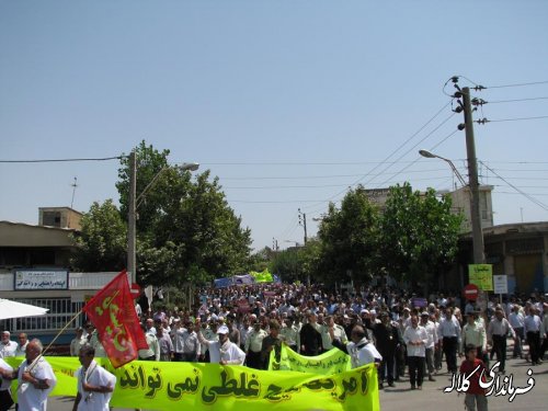
[[[95,294],[83,311],[98,329],[114,368],[137,358],[138,350],[148,350],[125,270]]]

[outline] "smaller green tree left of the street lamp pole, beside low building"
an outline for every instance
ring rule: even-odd
[[[78,249],[71,260],[77,271],[121,271],[126,265],[126,225],[112,199],[93,203],[73,236]]]

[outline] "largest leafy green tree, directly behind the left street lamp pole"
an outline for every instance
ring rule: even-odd
[[[250,263],[251,231],[228,206],[218,179],[168,163],[169,150],[145,141],[136,148],[137,193],[158,175],[137,204],[137,277],[140,283],[180,286],[240,274]],[[128,204],[127,160],[116,184],[122,213]]]

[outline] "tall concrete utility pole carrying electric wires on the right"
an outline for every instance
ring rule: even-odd
[[[473,263],[483,264],[483,231],[481,229],[481,212],[479,201],[478,161],[476,159],[476,142],[473,140],[473,121],[470,101],[470,89],[465,87],[460,91],[465,111],[466,152],[468,158],[468,180],[470,186],[470,222],[472,225]]]

